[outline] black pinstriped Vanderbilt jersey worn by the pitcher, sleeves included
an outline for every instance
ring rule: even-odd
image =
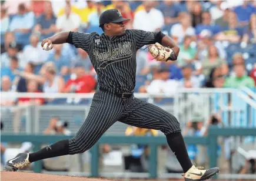
[[[155,42],[154,32],[130,29],[111,38],[104,33],[72,32],[69,43],[88,53],[98,75],[99,88],[131,92],[135,87],[137,50]]]

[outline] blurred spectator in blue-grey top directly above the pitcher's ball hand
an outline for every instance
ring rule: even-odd
[[[40,33],[41,41],[56,33],[56,17],[52,10],[51,2],[44,1],[44,12],[36,20],[34,32]]]

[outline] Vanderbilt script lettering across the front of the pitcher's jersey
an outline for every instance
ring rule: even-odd
[[[131,42],[118,43],[118,48],[108,47],[107,52],[99,53],[97,49],[94,49],[94,56],[100,65],[98,69],[106,68],[110,63],[124,61],[130,58],[132,55]]]

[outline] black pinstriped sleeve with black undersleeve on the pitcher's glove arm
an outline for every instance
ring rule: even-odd
[[[137,49],[141,48],[144,45],[150,45],[154,43],[161,43],[162,38],[165,36],[161,31],[159,32],[149,32],[143,30],[132,30],[134,33],[134,39],[136,42]]]

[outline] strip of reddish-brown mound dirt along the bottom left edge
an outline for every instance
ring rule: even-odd
[[[1,172],[1,181],[109,181],[107,179],[96,179],[87,177],[74,177],[62,175],[48,175],[41,173],[26,172]]]

